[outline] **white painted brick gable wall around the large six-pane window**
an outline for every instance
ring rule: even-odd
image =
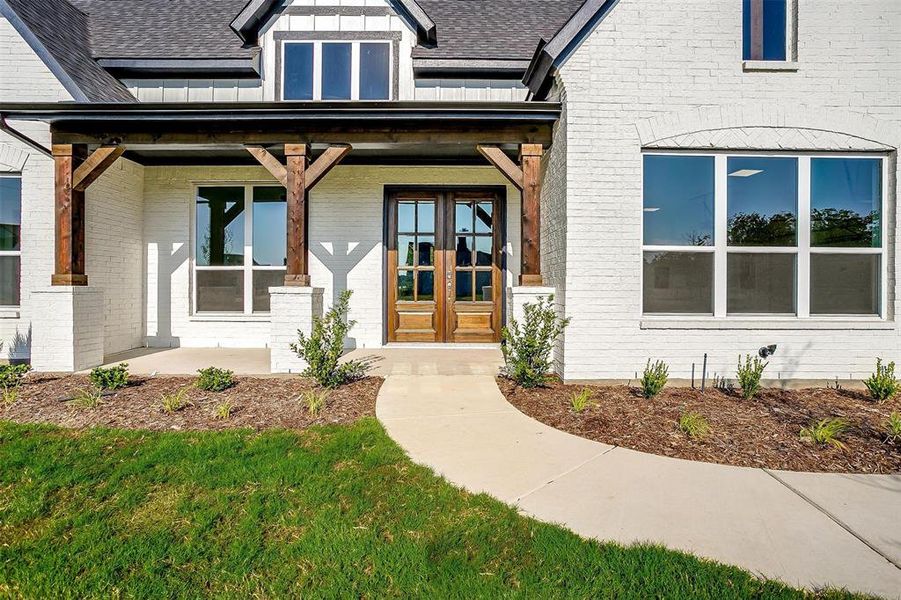
[[[711,372],[731,376],[739,353],[770,343],[779,345],[771,377],[861,377],[876,356],[898,358],[897,328],[640,327],[642,140],[717,123],[770,125],[775,115],[780,126],[875,132],[886,139],[871,139],[901,143],[901,2],[799,0],[797,72],[743,72],[741,23],[737,0],[621,0],[561,70],[566,186],[545,187],[567,199],[567,379],[631,377],[649,357],[686,377],[704,352]],[[897,177],[887,185],[894,212]],[[894,239],[897,220],[888,217]],[[894,245],[889,249],[890,304],[898,314],[898,266]],[[549,271],[560,264],[547,254],[545,261]]]

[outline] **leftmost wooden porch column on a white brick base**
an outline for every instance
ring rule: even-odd
[[[84,144],[54,144],[56,267],[52,285],[87,285],[84,270],[84,190],[76,189],[75,171],[87,157]]]

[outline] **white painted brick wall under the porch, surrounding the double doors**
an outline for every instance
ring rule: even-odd
[[[256,167],[147,167],[144,241],[146,323],[150,346],[265,347],[268,316],[191,315],[192,211],[196,185],[271,183]],[[519,191],[491,166],[336,167],[310,194],[310,276],[327,309],[344,289],[354,294],[350,333],[356,347],[379,347],[384,320],[384,189],[389,185],[503,185],[507,188],[507,282],[519,276]],[[293,334],[297,327],[290,333]]]

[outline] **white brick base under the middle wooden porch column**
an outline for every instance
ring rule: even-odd
[[[302,373],[307,363],[291,350],[298,330],[309,335],[313,317],[322,315],[322,288],[284,286],[269,288],[269,369],[273,373]]]

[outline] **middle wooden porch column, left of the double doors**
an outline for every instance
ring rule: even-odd
[[[288,189],[288,265],[285,285],[309,286],[309,224],[307,203],[307,145],[285,144]]]

